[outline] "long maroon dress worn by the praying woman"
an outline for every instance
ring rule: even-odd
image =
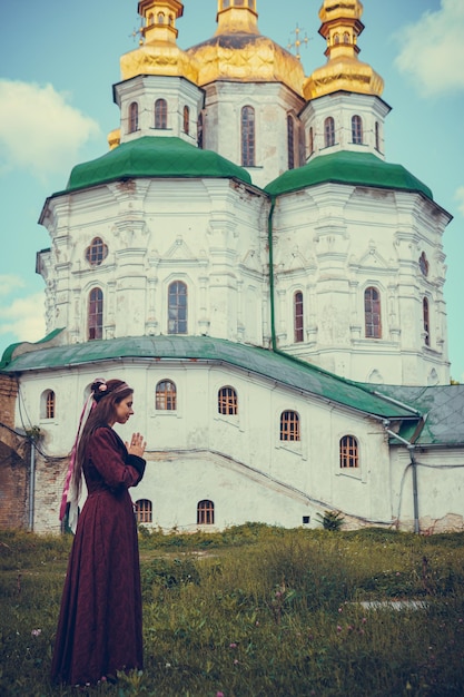
[[[137,524],[128,489],[145,460],[117,433],[99,428],[83,463],[88,498],[69,557],[51,677],[97,683],[142,668],[141,589]]]

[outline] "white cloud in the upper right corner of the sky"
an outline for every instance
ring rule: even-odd
[[[402,50],[395,65],[408,73],[423,96],[464,91],[464,2],[442,0],[397,35]]]

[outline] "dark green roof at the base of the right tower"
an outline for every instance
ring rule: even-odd
[[[340,150],[319,155],[304,167],[288,169],[270,181],[265,192],[272,196],[334,181],[383,189],[417,192],[433,200],[432,190],[402,165],[391,165],[372,153]]]

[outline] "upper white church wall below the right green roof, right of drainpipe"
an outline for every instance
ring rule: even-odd
[[[324,184],[282,197],[274,215],[279,347],[362,382],[375,374],[378,382],[427,384],[434,371],[436,381],[446,384],[446,220],[435,204],[412,193]],[[427,277],[419,271],[422,254],[431,259]],[[297,286],[305,312],[299,344],[294,343]],[[381,296],[379,338],[365,336],[364,293],[371,286]]]

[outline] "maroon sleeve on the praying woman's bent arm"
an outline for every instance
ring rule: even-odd
[[[111,429],[97,429],[91,435],[88,454],[105,483],[111,489],[137,487],[145,471],[145,460],[130,455]]]

